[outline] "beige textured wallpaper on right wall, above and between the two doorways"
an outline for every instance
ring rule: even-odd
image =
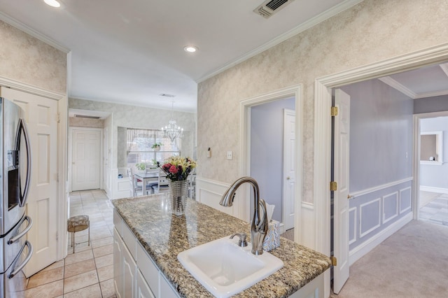
[[[198,86],[197,155],[202,178],[238,178],[239,101],[304,87],[303,201],[313,201],[314,80],[448,42],[448,1],[365,0]],[[207,148],[212,157],[207,159]]]

